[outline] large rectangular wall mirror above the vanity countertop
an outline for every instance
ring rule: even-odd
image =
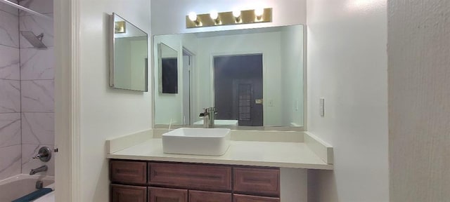
[[[304,27],[266,27],[154,36],[176,53],[177,93],[155,82],[155,128],[201,127],[199,114],[215,107],[216,126],[302,130]],[[172,65],[173,66],[173,65]],[[155,76],[161,68],[155,68]],[[158,78],[155,78],[158,81]]]

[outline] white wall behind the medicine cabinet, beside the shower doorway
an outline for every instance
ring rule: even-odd
[[[81,0],[79,8],[80,201],[106,202],[109,201],[109,180],[105,140],[152,126],[150,93],[108,86],[108,14],[115,12],[150,33],[150,1]]]

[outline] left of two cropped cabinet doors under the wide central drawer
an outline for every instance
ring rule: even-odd
[[[188,202],[188,190],[149,187],[148,198],[149,202]]]

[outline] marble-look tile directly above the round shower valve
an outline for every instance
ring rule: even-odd
[[[55,142],[53,113],[22,114],[22,144],[50,144]]]

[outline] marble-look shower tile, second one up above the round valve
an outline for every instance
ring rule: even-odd
[[[54,81],[21,81],[22,112],[54,112]]]

